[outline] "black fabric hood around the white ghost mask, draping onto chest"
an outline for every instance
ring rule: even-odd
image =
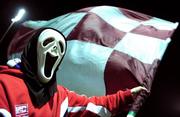
[[[48,83],[41,83],[37,75],[37,39],[41,32],[47,28],[36,30],[29,38],[29,43],[24,48],[21,56],[21,70],[25,77],[30,97],[34,105],[40,107],[49,101],[57,91],[56,71]],[[57,67],[58,68],[58,67]]]

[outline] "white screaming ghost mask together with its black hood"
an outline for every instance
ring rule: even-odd
[[[65,55],[66,41],[52,28],[34,30],[26,40],[20,68],[32,102],[40,107],[57,91],[56,71]]]

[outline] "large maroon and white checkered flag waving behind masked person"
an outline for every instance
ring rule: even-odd
[[[65,35],[68,46],[58,84],[87,96],[138,85],[150,90],[177,26],[124,8],[88,7],[48,21],[25,22],[10,43],[8,56],[17,57],[35,29],[52,27]]]

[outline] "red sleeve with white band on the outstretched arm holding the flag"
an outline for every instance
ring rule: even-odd
[[[69,99],[68,112],[70,115],[90,116],[90,114],[98,114],[101,117],[108,117],[118,114],[129,103],[133,102],[130,90],[118,91],[116,94],[107,96],[93,96],[89,98],[68,90],[67,94]]]

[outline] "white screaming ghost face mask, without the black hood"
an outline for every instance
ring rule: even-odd
[[[42,83],[49,82],[65,54],[64,36],[56,30],[46,29],[37,41],[37,73]],[[32,60],[33,61],[33,60]]]

